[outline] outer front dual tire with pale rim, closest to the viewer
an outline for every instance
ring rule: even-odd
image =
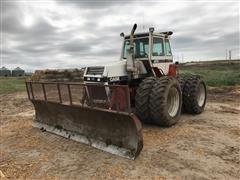
[[[181,115],[182,94],[176,78],[164,76],[155,82],[150,94],[150,115],[160,126],[175,124]]]

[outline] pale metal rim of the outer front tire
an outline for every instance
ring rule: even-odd
[[[171,117],[175,117],[177,115],[180,106],[179,102],[180,102],[179,92],[175,87],[172,87],[169,90],[167,99],[168,114]]]

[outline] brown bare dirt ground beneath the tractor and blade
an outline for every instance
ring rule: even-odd
[[[31,126],[25,93],[0,95],[0,179],[239,179],[240,87],[209,88],[204,113],[144,126],[132,161]]]

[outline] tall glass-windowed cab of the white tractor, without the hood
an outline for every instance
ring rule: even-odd
[[[169,73],[169,66],[173,62],[169,40],[172,34],[171,31],[154,32],[154,28],[149,28],[148,33],[133,35],[132,58],[138,64],[137,66],[143,64],[147,76],[161,76]],[[121,60],[127,60],[131,46],[131,35],[124,36],[123,33],[120,35],[124,38]],[[137,61],[141,61],[140,65]]]

